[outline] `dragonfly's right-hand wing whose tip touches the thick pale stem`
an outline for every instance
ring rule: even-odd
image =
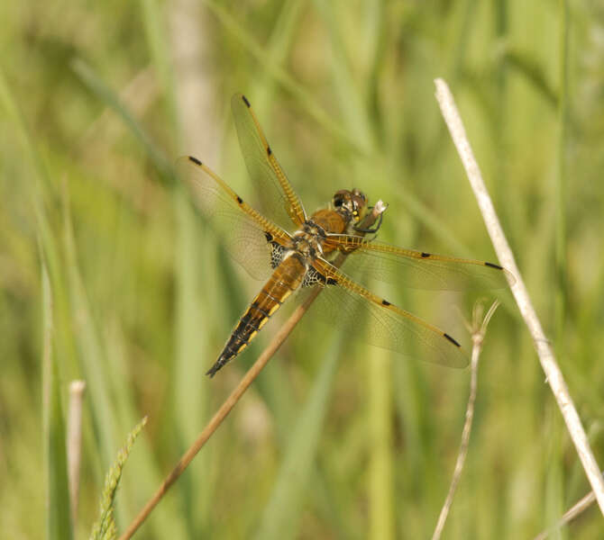
[[[495,263],[403,249],[358,236],[330,235],[327,245],[349,253],[343,270],[361,283],[377,279],[413,289],[463,291],[500,289],[515,281]]]

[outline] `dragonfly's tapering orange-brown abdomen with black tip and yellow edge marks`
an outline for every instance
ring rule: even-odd
[[[306,266],[297,254],[285,257],[256,295],[224,345],[223,352],[206,373],[213,377],[227,362],[243,351],[288,296],[297,290],[306,274]]]

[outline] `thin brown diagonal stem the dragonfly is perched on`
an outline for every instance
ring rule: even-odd
[[[376,205],[367,215],[365,220],[361,221],[361,227],[370,228],[371,225],[378,219],[380,214],[386,210],[386,205],[381,201],[376,202]],[[341,266],[344,257],[341,255],[335,261],[335,266]],[[139,512],[138,516],[133,519],[133,522],[125,530],[124,534],[119,537],[119,540],[127,540],[131,538],[136,530],[141,527],[142,522],[151,514],[151,510],[154,509],[160,502],[164,494],[169,490],[170,486],[178,480],[180,474],[188,467],[193,458],[197,455],[197,452],[206,444],[207,440],[214,435],[215,430],[222,424],[223,420],[227,417],[229,412],[233,410],[233,407],[237,404],[237,401],[241,399],[243,393],[253,383],[254,379],[261,373],[265,365],[269,363],[270,358],[279,350],[279,347],[288,338],[291,331],[296,327],[297,323],[307,312],[310,305],[315,301],[318,293],[321,292],[319,287],[316,288],[313,293],[309,294],[307,300],[300,306],[297,307],[285,324],[279,329],[275,337],[272,338],[268,347],[262,351],[261,356],[254,362],[252,367],[243,376],[243,379],[237,385],[237,387],[231,392],[231,395],[224,401],[219,410],[216,411],[212,419],[207,423],[206,428],[199,434],[199,437],[191,445],[187,452],[178,460],[178,464],[172,469],[172,472],[161,482],[160,487],[153,494],[147,504]]]

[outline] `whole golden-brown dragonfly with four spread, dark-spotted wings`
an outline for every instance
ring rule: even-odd
[[[197,157],[179,157],[178,175],[226,251],[255,279],[260,292],[227,339],[213,377],[238,356],[293,293],[320,293],[311,311],[352,337],[406,356],[452,367],[468,365],[459,341],[413,313],[371,293],[368,280],[434,290],[501,288],[513,277],[495,263],[436,255],[375,239],[381,224],[362,228],[371,210],[359,189],[339,190],[325,207],[307,214],[279,165],[252,106],[243,94],[231,100],[243,158],[257,202],[245,202]],[[370,237],[365,234],[370,233]],[[337,256],[344,263],[334,264]],[[304,298],[296,294],[294,298]]]

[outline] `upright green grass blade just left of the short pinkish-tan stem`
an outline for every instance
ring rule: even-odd
[[[66,431],[60,401],[59,370],[52,354],[52,292],[46,263],[42,259],[42,365],[45,392],[44,447],[46,464],[46,538],[72,538]]]

